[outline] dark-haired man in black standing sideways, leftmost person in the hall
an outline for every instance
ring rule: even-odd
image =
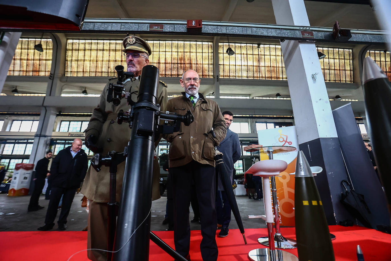
[[[45,158],[38,160],[37,165],[35,166],[35,185],[34,190],[31,193],[30,203],[27,211],[37,211],[44,208],[38,205],[38,200],[42,193],[42,189],[45,186],[45,178],[46,176],[50,175],[48,171],[48,165],[52,155],[52,151],[48,151],[45,155]]]

